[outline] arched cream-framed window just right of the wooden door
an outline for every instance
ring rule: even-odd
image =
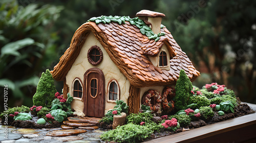
[[[109,83],[108,102],[119,100],[119,86],[116,80]]]

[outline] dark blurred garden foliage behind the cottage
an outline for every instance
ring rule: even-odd
[[[201,76],[202,87],[218,82],[244,102],[256,103],[256,1],[1,0],[0,95],[8,107],[31,107],[42,72],[52,70],[76,29],[94,16],[135,17],[147,9],[164,13],[172,33]],[[55,83],[61,92],[62,82]]]

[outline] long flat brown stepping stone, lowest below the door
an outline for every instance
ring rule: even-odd
[[[69,136],[69,135],[74,135],[74,134],[79,134],[79,133],[85,133],[87,132],[87,130],[54,130],[54,131],[50,131],[48,132],[46,135],[49,136]]]

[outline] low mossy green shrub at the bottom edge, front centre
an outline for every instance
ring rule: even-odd
[[[140,142],[150,137],[153,131],[147,126],[134,125],[132,123],[118,126],[114,130],[104,132],[100,138],[104,141],[116,142]]]

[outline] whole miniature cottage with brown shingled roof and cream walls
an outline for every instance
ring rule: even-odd
[[[130,112],[137,113],[149,90],[160,95],[160,101],[152,98],[151,105],[161,102],[163,89],[175,86],[181,69],[190,81],[200,75],[161,25],[164,16],[148,10],[138,12],[137,20],[145,27],[127,17],[94,17],[77,29],[70,47],[51,71],[55,80],[64,82],[64,97],[67,93],[73,96],[72,109],[103,117],[116,100],[123,100]],[[155,39],[143,28],[150,28]]]

